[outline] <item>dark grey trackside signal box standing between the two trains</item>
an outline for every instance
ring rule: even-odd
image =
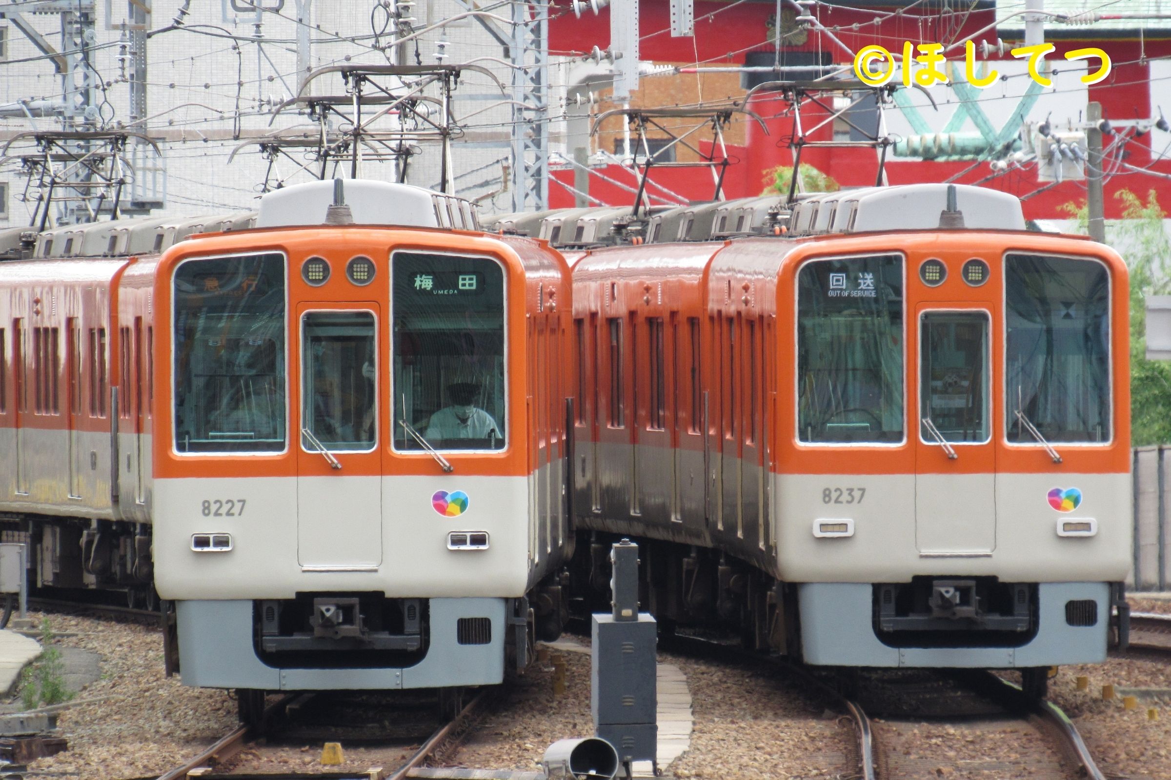
[[[649,613],[638,612],[638,545],[614,545],[610,562],[614,609],[594,615],[590,711],[594,733],[614,745],[629,776],[632,762],[655,761],[658,745],[657,627]]]

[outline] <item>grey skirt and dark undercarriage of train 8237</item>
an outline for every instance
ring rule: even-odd
[[[619,538],[578,538],[575,614],[609,609],[609,551]],[[794,584],[717,550],[637,541],[641,608],[660,633],[735,633],[748,649],[816,665],[1015,669],[1028,692],[1043,693],[1053,664],[1104,657],[1108,634],[1125,633],[1111,616],[1124,603],[1116,584],[956,575]]]

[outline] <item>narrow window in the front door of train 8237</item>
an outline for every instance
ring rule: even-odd
[[[936,432],[949,442],[988,440],[988,326],[982,311],[930,311],[919,319],[923,441],[937,443]]]

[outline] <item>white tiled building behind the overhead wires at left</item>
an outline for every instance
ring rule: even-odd
[[[289,98],[297,89],[296,74],[296,2],[263,0],[278,13],[262,14],[262,43],[255,42],[255,14],[233,11],[233,0],[193,0],[182,27],[156,33],[146,48],[146,132],[163,150],[166,168],[166,206],[156,215],[197,215],[255,207],[265,179],[267,161],[254,146],[242,150],[228,164],[232,150],[249,138],[282,127],[310,129],[306,116],[282,112],[273,116],[273,106]],[[237,5],[245,5],[235,0]],[[125,18],[126,0],[95,0],[97,13],[96,44],[93,67],[107,84],[101,111],[107,126],[129,124],[130,85],[124,81],[119,53],[122,33],[117,25]],[[152,30],[163,30],[173,22],[183,0],[153,0]],[[458,0],[417,0],[411,9],[416,29],[464,12]],[[507,18],[508,6],[494,13]],[[61,47],[61,22],[57,14],[25,13],[54,48]],[[311,65],[314,68],[343,62],[385,64],[386,55],[375,49],[375,34],[385,43],[383,33],[386,14],[377,0],[314,0],[310,15]],[[0,20],[5,39],[4,62],[0,62],[0,104],[44,98],[62,99],[62,81],[29,39],[9,20]],[[390,27],[393,29],[393,27]],[[506,37],[509,28],[498,25]],[[233,37],[234,36],[234,37]],[[245,40],[239,40],[245,39]],[[477,20],[461,19],[441,30],[431,32],[402,47],[406,64],[436,64],[437,43],[447,42],[445,63],[468,62],[478,57],[507,58],[504,47]],[[491,68],[508,90],[509,69],[491,60],[477,64]],[[329,76],[315,83],[315,94],[341,95],[341,80]],[[430,90],[429,94],[434,94]],[[501,165],[509,160],[512,97],[480,74],[466,73],[457,90],[454,113],[465,118],[464,137],[453,144],[454,184],[458,194],[477,198],[501,189]],[[101,98],[100,98],[101,99]],[[337,127],[335,122],[334,126]],[[0,118],[0,137],[8,139],[30,130],[57,130],[56,118]],[[25,149],[28,149],[27,146]],[[14,147],[9,154],[15,153]],[[288,175],[296,167],[280,161]],[[310,166],[310,168],[314,166]],[[340,175],[349,175],[348,168]],[[367,165],[363,178],[389,179],[389,165]],[[289,181],[307,181],[301,173]],[[439,184],[439,147],[426,145],[409,166],[411,184]],[[21,202],[25,179],[19,175],[19,161],[0,168],[0,182],[6,185],[4,216],[0,226],[28,225],[32,203]],[[509,210],[511,195],[505,192],[495,202],[488,199],[486,210]]]

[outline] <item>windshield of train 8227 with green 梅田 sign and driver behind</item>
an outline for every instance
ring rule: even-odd
[[[504,269],[398,251],[391,285],[395,449],[504,449]]]

